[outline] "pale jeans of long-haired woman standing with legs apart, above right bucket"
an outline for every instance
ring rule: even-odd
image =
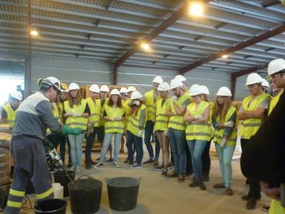
[[[114,161],[118,161],[118,156],[120,153],[120,138],[122,138],[122,135],[123,133],[117,133],[117,132],[105,133],[101,155],[100,155],[100,163],[103,163],[103,161],[105,160],[105,156],[108,152],[108,148],[110,146],[113,136],[114,136],[114,145],[115,145]]]

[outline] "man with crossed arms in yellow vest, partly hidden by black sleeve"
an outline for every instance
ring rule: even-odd
[[[257,73],[250,73],[247,76],[247,86],[250,96],[242,101],[242,107],[239,109],[238,119],[242,121],[239,128],[239,136],[241,137],[241,146],[249,142],[249,138],[257,133],[261,123],[266,116],[266,110],[270,96],[262,91],[262,78]],[[243,195],[242,200],[247,200],[247,209],[253,210],[257,205],[260,195],[260,184],[258,180],[249,179],[249,193]]]

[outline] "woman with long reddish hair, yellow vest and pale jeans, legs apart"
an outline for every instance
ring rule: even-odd
[[[113,165],[115,165],[115,167],[120,167],[120,165],[118,165],[118,155],[120,153],[120,138],[122,138],[125,126],[125,111],[120,100],[120,92],[117,89],[113,89],[110,96],[108,104],[105,105],[105,112],[103,114],[103,118],[105,119],[105,136],[100,161],[94,165],[94,168],[98,168],[103,165],[103,161],[105,160],[105,156],[108,152],[113,136],[115,145]]]

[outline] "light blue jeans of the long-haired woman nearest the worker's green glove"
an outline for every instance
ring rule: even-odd
[[[69,144],[71,146],[71,163],[78,168],[81,167],[83,138],[84,133],[78,136],[68,135]]]

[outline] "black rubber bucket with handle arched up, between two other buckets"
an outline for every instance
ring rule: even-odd
[[[82,177],[87,178],[82,179]],[[74,214],[96,213],[100,209],[103,183],[88,175],[81,175],[73,183],[68,183],[71,212]]]

